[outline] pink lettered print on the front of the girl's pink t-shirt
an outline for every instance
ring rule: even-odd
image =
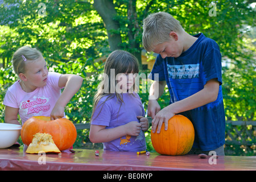
[[[33,100],[27,100],[20,103],[20,109],[23,109],[26,114],[37,115],[40,111],[48,111],[50,105],[47,105],[49,98],[46,97],[36,97]]]

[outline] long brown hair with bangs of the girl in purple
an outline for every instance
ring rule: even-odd
[[[106,100],[102,102],[98,107],[102,105],[104,106],[105,102],[110,100],[113,97],[117,97],[117,101],[120,102],[120,107],[123,103],[123,98],[122,98],[122,93],[118,93],[115,90],[115,86],[117,85],[117,80],[112,80],[113,78],[111,77],[111,70],[114,69],[114,76],[116,77],[119,73],[139,73],[139,62],[137,58],[132,55],[131,53],[127,51],[122,51],[122,50],[116,50],[110,53],[110,55],[107,57],[105,66],[104,66],[104,74],[106,77],[102,77],[102,80],[98,86],[98,90],[96,94],[94,95],[94,105],[93,105],[93,111],[92,111],[92,117],[94,111],[96,110],[96,106],[98,105],[98,102],[101,100],[102,97],[106,97]],[[114,78],[115,78],[114,77]],[[104,82],[108,82],[108,88],[104,88]],[[112,92],[112,89],[114,89],[114,93]],[[135,91],[136,86],[135,83],[132,87],[133,91]],[[102,109],[101,107],[101,109]],[[119,108],[120,108],[119,107]],[[100,112],[99,112],[100,113]],[[97,116],[96,116],[97,117]]]

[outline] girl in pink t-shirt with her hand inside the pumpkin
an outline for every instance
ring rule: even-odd
[[[20,80],[10,86],[3,101],[6,123],[20,125],[18,114],[22,125],[36,115],[65,117],[64,107],[80,89],[82,77],[48,72],[42,53],[28,46],[14,53],[13,68]]]

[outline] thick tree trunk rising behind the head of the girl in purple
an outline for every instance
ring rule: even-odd
[[[117,12],[114,9],[114,4],[110,0],[94,0],[93,7],[104,21],[104,26],[108,32],[108,42],[110,51],[120,49],[122,43],[119,30],[119,23],[114,20]]]

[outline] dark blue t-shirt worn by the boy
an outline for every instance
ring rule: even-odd
[[[220,82],[217,100],[192,110],[179,113],[187,117],[195,128],[194,148],[214,150],[225,143],[225,113],[222,98],[221,53],[214,40],[203,34],[179,57],[160,55],[156,58],[150,78],[166,81],[170,104],[183,100],[204,88],[207,81],[217,78]],[[158,78],[155,77],[158,73]]]

